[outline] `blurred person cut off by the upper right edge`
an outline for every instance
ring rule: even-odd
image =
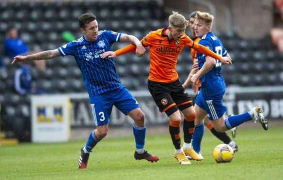
[[[283,24],[283,0],[274,0],[275,15],[279,15],[278,21]],[[279,24],[280,24],[279,23]],[[272,28],[270,30],[273,45],[276,45],[278,51],[283,52],[283,27]]]

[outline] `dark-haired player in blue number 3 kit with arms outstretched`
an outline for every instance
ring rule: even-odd
[[[86,145],[81,148],[79,168],[87,167],[90,152],[107,135],[113,105],[134,120],[135,159],[157,162],[159,160],[157,156],[153,156],[144,150],[146,128],[144,114],[140,105],[126,87],[122,85],[115,70],[114,60],[112,58],[101,58],[102,53],[111,51],[111,45],[115,42],[135,44],[137,46],[136,54],[139,57],[144,54],[144,47],[135,36],[110,30],[98,31],[96,17],[92,14],[79,16],[79,28],[83,36],[78,40],[54,50],[43,51],[29,56],[16,56],[12,64],[27,60],[48,60],[66,55],[75,57],[89,94],[96,125],[96,129],[90,133]]]

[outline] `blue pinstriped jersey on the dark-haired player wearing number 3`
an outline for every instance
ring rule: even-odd
[[[111,51],[111,45],[119,42],[120,37],[121,33],[100,30],[94,42],[89,42],[82,36],[58,48],[63,57],[75,57],[90,97],[123,86],[117,75],[114,60],[101,58],[104,52]]]

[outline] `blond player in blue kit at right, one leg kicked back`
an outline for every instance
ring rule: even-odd
[[[199,44],[206,46],[222,57],[230,57],[220,39],[211,32],[213,18],[209,13],[197,12],[195,16],[195,34],[201,38]],[[196,152],[199,153],[201,150],[206,115],[218,132],[225,132],[249,120],[259,121],[265,130],[268,129],[268,122],[264,118],[260,106],[255,106],[249,112],[225,119],[226,107],[222,104],[225,82],[221,74],[221,62],[199,52],[197,52],[197,60],[199,71],[191,77],[193,86],[197,85],[197,80],[200,78],[202,87],[194,105],[197,115],[192,146]]]

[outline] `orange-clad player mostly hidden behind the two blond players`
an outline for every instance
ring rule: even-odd
[[[201,38],[196,37],[195,30],[194,30],[195,28],[194,21],[195,21],[196,13],[197,11],[194,11],[189,15],[189,29],[191,31],[193,41],[198,43]],[[191,53],[191,58],[192,58],[193,63],[197,63],[197,52],[194,49],[191,49],[190,53]],[[187,88],[189,86],[191,75],[195,74],[197,71],[198,69],[191,70],[190,74],[188,75],[188,78],[183,84],[184,88]],[[198,93],[200,92],[200,88],[201,88],[201,83],[200,83],[200,80],[198,79],[197,85],[193,86],[192,89],[194,92],[197,92],[197,95],[198,95]],[[196,99],[197,95],[193,98],[193,104],[194,104],[194,100]],[[228,144],[229,146],[231,146],[234,152],[238,150],[238,146],[236,145],[236,143],[225,132],[219,133],[215,130],[215,128],[213,127],[212,123],[210,122],[207,116],[204,119],[204,125],[211,131],[213,135],[219,138],[224,144]],[[235,138],[236,127],[231,129],[231,133],[232,133],[233,138]]]

